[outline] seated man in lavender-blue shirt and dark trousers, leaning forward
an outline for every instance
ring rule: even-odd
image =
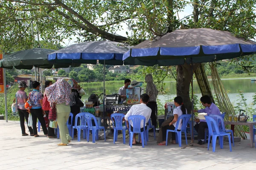
[[[198,111],[194,110],[195,112],[198,113],[207,113],[207,116],[209,116],[209,114],[215,114],[215,115],[219,115],[221,116],[221,111],[219,110],[219,108],[212,103],[211,98],[207,95],[202,96],[200,99],[202,105],[205,107],[205,109],[200,109]],[[205,144],[204,141],[204,130],[205,128],[208,128],[207,123],[205,120],[201,120],[201,119],[195,119],[195,122],[198,123],[195,125],[195,130],[198,132],[198,144]]]

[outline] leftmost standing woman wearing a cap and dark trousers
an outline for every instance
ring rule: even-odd
[[[28,86],[26,85],[26,82],[21,81],[18,88],[20,88],[20,90],[17,91],[17,93],[15,94],[15,98],[17,99],[17,105],[18,105],[18,113],[19,113],[19,117],[20,117],[20,128],[21,128],[21,133],[22,136],[28,136],[29,134],[26,133],[26,129],[25,129],[25,119],[28,125],[28,119],[29,119],[29,112],[27,112],[27,110],[25,109],[24,105],[28,99],[28,96],[26,95],[25,89]],[[25,119],[24,119],[25,117]],[[29,127],[29,133],[30,136],[34,136],[33,133],[33,129],[32,127]]]

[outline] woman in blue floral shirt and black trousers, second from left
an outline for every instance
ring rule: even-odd
[[[33,91],[31,91],[29,93],[29,99],[32,103],[32,108],[30,109],[30,113],[32,115],[32,121],[33,121],[33,131],[34,131],[34,136],[38,137],[38,133],[37,133],[37,128],[36,128],[36,122],[37,119],[39,120],[39,122],[42,125],[44,134],[47,136],[48,135],[48,130],[47,127],[45,125],[45,121],[44,121],[44,113],[42,110],[42,105],[43,105],[43,96],[41,94],[41,92],[39,92],[39,86],[40,83],[37,81],[32,82],[32,87],[34,88]],[[40,128],[40,127],[39,127]]]

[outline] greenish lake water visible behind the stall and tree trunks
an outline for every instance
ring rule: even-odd
[[[165,103],[168,99],[174,99],[176,96],[176,82],[165,82],[165,88],[169,89],[168,94],[158,95],[158,99],[161,100],[162,103]],[[235,104],[239,99],[239,91],[243,91],[244,97],[247,99],[247,104],[251,104],[253,95],[256,93],[256,82],[250,81],[250,79],[222,79],[222,83],[226,91],[228,91],[228,96],[230,101]],[[212,81],[209,81],[209,84],[212,89],[212,93],[214,93]],[[143,84],[143,87],[146,83]],[[107,84],[105,85],[106,93],[112,94],[117,93],[118,89],[123,86],[122,83],[119,84]],[[198,83],[194,81],[194,92],[195,95],[201,96],[200,89],[198,87]],[[82,97],[83,101],[88,98],[88,96],[92,93],[97,93],[98,95],[103,93],[103,82],[102,85],[87,85],[82,87],[86,92],[86,95]]]

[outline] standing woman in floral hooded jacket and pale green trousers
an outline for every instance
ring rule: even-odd
[[[57,123],[61,137],[61,143],[58,146],[67,146],[72,139],[66,124],[70,116],[71,86],[64,79],[58,79],[45,89],[45,94],[49,102],[56,104]]]

